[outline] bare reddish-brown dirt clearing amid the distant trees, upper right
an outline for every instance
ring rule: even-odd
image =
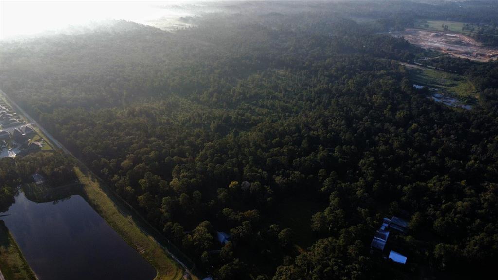
[[[430,31],[407,28],[394,34],[427,49],[435,49],[455,57],[487,62],[498,58],[498,49],[484,46],[473,38],[451,31]]]

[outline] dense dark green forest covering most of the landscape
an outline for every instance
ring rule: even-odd
[[[2,42],[0,87],[216,279],[489,275],[498,63],[432,61],[479,91],[470,111],[435,103],[399,64],[426,51],[379,33],[412,8],[454,10],[355,3],[344,15],[383,17],[220,13],[174,33],[119,21]],[[497,22],[484,3],[469,9]],[[29,158],[0,161],[2,207]],[[369,253],[392,215],[409,221],[406,266]]]

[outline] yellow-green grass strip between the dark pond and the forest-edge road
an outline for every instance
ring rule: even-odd
[[[182,279],[183,270],[164,249],[149,235],[140,230],[128,211],[120,211],[119,206],[103,191],[100,183],[91,175],[75,167],[76,175],[83,184],[83,196],[106,222],[157,272],[154,280]]]

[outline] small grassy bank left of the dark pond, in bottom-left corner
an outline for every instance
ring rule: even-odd
[[[0,220],[0,270],[6,280],[37,279],[2,220]]]

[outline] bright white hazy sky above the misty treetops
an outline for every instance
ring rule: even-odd
[[[104,19],[126,19],[139,23],[178,16],[178,9],[158,8],[195,4],[199,0],[162,1],[22,1],[0,0],[0,39],[29,35]],[[185,11],[186,12],[186,11]],[[174,13],[174,14],[173,14]],[[181,14],[180,14],[181,15]]]

